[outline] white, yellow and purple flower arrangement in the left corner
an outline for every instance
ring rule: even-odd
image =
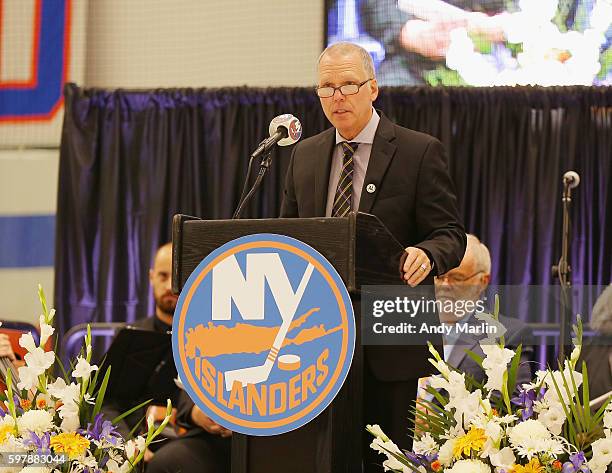
[[[0,394],[0,470],[130,472],[168,423],[170,401],[161,425],[156,427],[148,419],[145,436],[124,439],[116,423],[146,403],[114,419],[105,419],[101,411],[111,367],[98,377],[98,367],[91,364],[88,330],[84,350],[66,371],[59,357],[45,350],[55,331],[55,310],[47,309],[40,286],[39,298],[43,310],[40,343],[37,346],[31,333],[21,336],[19,344],[27,350],[25,365],[15,372],[8,370],[6,391]],[[63,376],[55,378],[56,370]]]

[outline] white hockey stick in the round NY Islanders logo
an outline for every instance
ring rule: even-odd
[[[263,365],[259,366],[249,366],[247,368],[239,368],[237,370],[226,371],[224,373],[225,376],[225,389],[229,391],[232,389],[234,385],[234,381],[239,381],[242,383],[242,386],[246,386],[247,384],[258,384],[267,381],[270,377],[270,372],[274,367],[274,362],[276,361],[276,357],[278,356],[278,352],[283,346],[283,342],[285,341],[285,337],[287,336],[287,332],[289,331],[289,327],[293,318],[295,317],[295,313],[297,312],[300,301],[302,300],[302,296],[304,295],[304,291],[306,290],[306,286],[308,285],[308,281],[310,281],[310,276],[312,275],[312,271],[314,266],[312,264],[308,264],[306,271],[304,271],[304,275],[302,276],[302,280],[300,281],[300,285],[295,293],[295,301],[291,310],[285,312],[281,310],[281,317],[283,318],[283,323],[281,324],[280,330],[276,334],[276,338],[274,338],[274,343],[272,344],[272,348],[270,348],[270,352],[268,353],[268,357]]]

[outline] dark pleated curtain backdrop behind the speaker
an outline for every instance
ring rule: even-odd
[[[185,213],[229,218],[248,156],[270,120],[292,113],[304,137],[329,126],[309,88],[107,91],[65,88],[55,306],[60,331],[152,313],[148,268]],[[561,252],[561,176],[573,202],[573,280],[612,272],[612,88],[391,88],[375,104],[438,137],[466,229],[491,249],[493,282],[554,281]],[[245,216],[278,215],[290,148]]]

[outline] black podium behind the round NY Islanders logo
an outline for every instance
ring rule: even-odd
[[[357,341],[344,386],[316,419],[282,435],[233,435],[232,473],[361,472],[365,424],[362,416],[364,354],[360,335],[359,288],[363,285],[402,284],[400,263],[405,254],[404,247],[377,217],[364,213],[351,213],[343,218],[260,220],[200,220],[175,215],[173,291],[180,293],[189,275],[209,253],[231,240],[255,233],[296,238],[318,250],[331,262],[351,294]],[[415,377],[427,370],[428,365],[426,348],[418,348],[420,355],[410,360],[415,367]]]

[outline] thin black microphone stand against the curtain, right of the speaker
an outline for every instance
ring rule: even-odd
[[[561,285],[561,300],[559,312],[559,361],[565,360],[565,354],[571,351],[569,343],[566,344],[568,334],[571,333],[572,321],[572,294],[570,273],[572,268],[569,265],[570,253],[570,204],[572,203],[572,191],[570,183],[563,181],[563,234],[561,242],[561,259],[559,263],[552,267],[552,275],[559,278]]]

